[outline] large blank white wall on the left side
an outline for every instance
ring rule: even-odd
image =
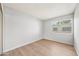
[[[3,7],[4,51],[41,39],[42,22],[29,14]]]

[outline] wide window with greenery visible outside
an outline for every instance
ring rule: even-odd
[[[53,24],[53,31],[56,32],[71,32],[72,31],[71,20],[62,20]]]

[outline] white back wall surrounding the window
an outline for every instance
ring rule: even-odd
[[[73,20],[73,14],[65,15],[65,16],[61,16],[57,18],[52,18],[47,21],[43,21],[44,22],[43,38],[73,45],[73,31],[71,34],[53,32],[53,27],[52,27],[53,23],[59,20],[63,20],[63,19]]]

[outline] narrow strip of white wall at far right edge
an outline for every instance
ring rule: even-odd
[[[79,4],[74,13],[74,46],[79,55]]]

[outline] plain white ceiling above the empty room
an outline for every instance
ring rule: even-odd
[[[4,6],[45,20],[72,13],[75,3],[5,3]]]

